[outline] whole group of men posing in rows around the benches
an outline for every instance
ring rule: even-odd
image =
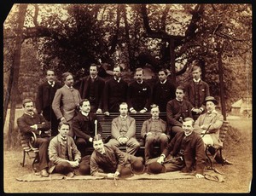
[[[17,122],[22,133],[37,135],[41,176],[58,172],[69,177],[76,173],[115,178],[127,168],[142,172],[145,164],[149,173],[196,169],[195,176],[202,177],[205,147],[223,145],[218,138],[223,116],[215,109],[218,101],[210,96],[208,84],[201,80],[201,67],[193,66],[193,81],[184,87],[173,85],[164,69],[153,88],[143,80],[142,68],[137,68],[136,81],[129,85],[121,71],[121,66],[114,66],[113,78],[105,82],[97,75],[98,66],[92,64],[90,75],[81,78],[75,89],[72,73],[62,74],[61,86],[55,72],[48,70],[47,81],[38,87],[36,110],[31,99],[23,101],[24,114]],[[109,116],[111,112],[120,115],[113,118],[110,141],[103,144],[95,113]],[[141,130],[144,159],[135,156],[140,143],[136,120],[129,112],[151,113]],[[167,122],[159,117],[160,112],[166,112]],[[51,137],[45,134],[47,130]],[[160,145],[158,158],[152,154],[155,144]],[[118,148],[123,145],[125,153]],[[91,156],[90,147],[95,149]],[[230,164],[219,155],[216,161]]]

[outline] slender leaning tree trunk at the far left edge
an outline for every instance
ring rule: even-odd
[[[17,86],[18,86],[18,79],[19,79],[19,72],[20,72],[20,54],[21,54],[21,43],[22,43],[22,28],[24,26],[25,14],[26,14],[27,4],[20,4],[19,8],[19,16],[17,19],[18,29],[17,29],[17,37],[15,42],[15,55],[13,61],[13,72],[10,72],[11,75],[9,76],[9,84],[11,88],[8,88],[10,92],[10,115],[9,115],[9,131],[8,131],[8,141],[7,141],[7,148],[9,149],[12,146],[11,138],[14,136],[14,128],[15,128],[15,109],[16,109],[16,95]],[[7,96],[8,96],[7,95]],[[8,97],[7,97],[8,98]],[[6,103],[8,106],[9,103]]]

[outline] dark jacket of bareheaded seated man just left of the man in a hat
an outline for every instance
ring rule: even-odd
[[[192,118],[192,105],[189,101],[183,100],[181,102],[177,99],[169,101],[166,106],[166,118],[169,127],[170,126],[182,126],[182,123],[179,121],[180,118],[184,119],[187,117]]]

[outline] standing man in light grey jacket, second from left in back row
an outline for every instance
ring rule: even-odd
[[[62,74],[64,86],[61,89],[57,89],[55,98],[52,102],[52,109],[55,115],[62,123],[70,124],[71,128],[69,135],[73,137],[72,119],[76,115],[79,108],[79,102],[81,97],[79,90],[73,88],[73,75],[70,72],[64,72]]]

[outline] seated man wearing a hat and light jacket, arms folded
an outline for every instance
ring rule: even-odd
[[[195,132],[201,135],[205,145],[223,146],[223,142],[219,139],[219,129],[223,124],[224,117],[218,113],[215,108],[218,101],[213,96],[207,96],[204,101],[206,104],[207,112],[201,114],[195,121]],[[214,154],[214,148],[210,147],[209,152]],[[227,159],[221,158],[218,153],[215,157],[217,163],[232,164]]]

